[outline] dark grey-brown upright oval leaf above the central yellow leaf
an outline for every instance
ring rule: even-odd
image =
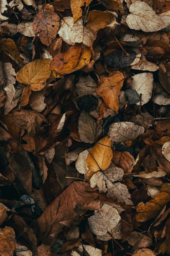
[[[80,140],[85,143],[94,143],[96,140],[96,123],[85,111],[80,113],[78,129]]]

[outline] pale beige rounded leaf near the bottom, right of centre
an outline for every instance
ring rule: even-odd
[[[116,208],[103,204],[101,209],[88,218],[88,225],[92,233],[97,236],[104,236],[110,232],[120,221]]]

